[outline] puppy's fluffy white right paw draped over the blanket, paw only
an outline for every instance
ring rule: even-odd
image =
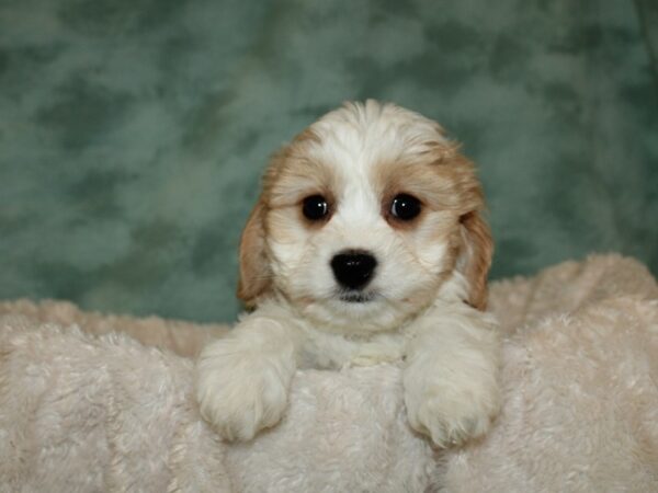
[[[409,424],[442,448],[485,435],[500,409],[495,379],[460,382],[407,369],[405,404]]]

